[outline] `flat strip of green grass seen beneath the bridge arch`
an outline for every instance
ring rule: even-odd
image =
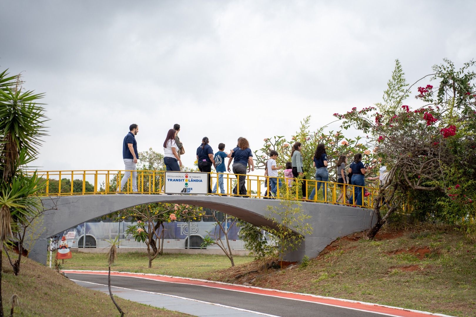
[[[234,256],[235,265],[248,263],[251,257]],[[153,273],[181,277],[197,278],[205,273],[230,267],[230,260],[225,255],[206,254],[164,254],[152,261],[149,269],[149,259],[146,253],[119,253],[118,260],[111,267],[115,271],[134,273]],[[107,270],[106,254],[73,252],[72,259],[64,260],[61,269]]]

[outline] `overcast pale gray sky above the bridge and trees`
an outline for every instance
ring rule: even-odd
[[[42,170],[123,169],[122,139],[192,166],[208,136],[291,135],[312,115],[381,101],[399,58],[413,82],[475,57],[476,1],[0,0],[0,71],[46,93]],[[410,101],[411,102],[411,101]],[[338,125],[333,125],[333,128]]]

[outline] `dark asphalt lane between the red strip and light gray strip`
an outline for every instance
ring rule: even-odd
[[[108,284],[107,275],[75,274],[67,273],[70,279]],[[319,303],[306,301],[276,298],[272,296],[252,294],[241,291],[233,291],[221,288],[205,287],[200,285],[188,285],[162,282],[149,279],[138,279],[126,276],[111,276],[111,286],[143,290],[180,296],[184,298],[197,299],[210,303],[227,305],[248,309],[260,313],[280,316],[280,317],[381,317],[382,314],[349,309],[344,307],[334,307]],[[391,316],[391,315],[387,315]]]

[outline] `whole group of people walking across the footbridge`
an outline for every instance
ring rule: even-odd
[[[135,136],[139,132],[139,126],[132,124],[129,126],[129,133],[124,137],[122,146],[122,156],[124,160],[124,168],[126,172],[121,179],[118,192],[124,187],[129,178],[131,177],[132,191],[137,192],[137,142]],[[167,171],[180,171],[182,161],[180,155],[185,154],[183,144],[180,142],[178,133],[180,132],[180,125],[175,124],[170,129],[165,137],[163,144],[164,147],[164,165]],[[274,198],[277,196],[278,188],[283,185],[292,187],[292,182],[297,182],[297,186],[300,186],[302,191],[302,199],[305,201],[314,201],[314,198],[322,187],[323,201],[328,201],[328,158],[326,153],[325,144],[318,144],[313,156],[313,166],[316,168],[316,185],[312,186],[313,189],[307,198],[308,183],[303,180],[304,165],[303,156],[301,154],[302,144],[296,142],[292,145],[291,162],[287,162],[285,166],[277,165],[276,160],[279,156],[278,152],[271,150],[269,153],[269,159],[265,164],[265,176],[267,177],[267,191],[265,196],[268,198]],[[253,153],[249,148],[248,140],[244,137],[238,138],[238,144],[229,153],[225,152],[225,144],[218,144],[218,152],[213,153],[212,147],[209,145],[208,137],[203,137],[200,146],[196,150],[197,165],[200,172],[210,173],[212,166],[218,173],[218,181],[212,189],[211,177],[208,175],[208,193],[218,193],[218,187],[221,194],[227,194],[224,188],[223,173],[226,171],[233,172],[237,177],[237,184],[233,188],[233,194],[237,196],[247,197],[248,192],[246,189],[246,174],[250,171],[254,171]],[[228,165],[225,167],[225,159],[228,158]],[[230,169],[231,165],[231,169]],[[365,186],[365,174],[371,169],[368,164],[362,163],[362,154],[357,153],[353,157],[353,162],[346,170],[347,156],[340,155],[337,161],[337,183],[341,189],[340,195],[337,198],[337,202],[355,204],[357,206],[363,205],[363,197],[368,193],[363,191]],[[281,178],[278,177],[278,171],[284,169],[285,184],[281,182]],[[367,178],[370,180],[380,179],[380,182],[385,181],[385,170],[380,170],[380,176],[374,178]],[[243,176],[242,176],[243,175]],[[347,198],[347,186],[353,186],[353,190],[350,193],[350,198]],[[361,187],[362,186],[362,187]]]

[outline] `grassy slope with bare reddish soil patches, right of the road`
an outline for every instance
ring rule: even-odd
[[[362,240],[361,234],[337,240],[306,267],[259,270],[235,279],[261,266],[253,262],[200,278],[476,316],[475,244],[452,228],[382,233],[374,241]]]

